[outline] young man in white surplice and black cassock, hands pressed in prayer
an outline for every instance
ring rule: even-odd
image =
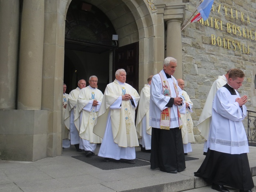
[[[236,91],[245,74],[240,69],[229,72],[228,83],[220,88],[212,104],[212,121],[207,140],[208,151],[195,176],[212,183],[212,189],[229,192],[223,185],[252,192],[254,188],[247,153],[248,140],[243,127],[247,96]]]

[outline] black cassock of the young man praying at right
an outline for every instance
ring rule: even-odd
[[[231,95],[236,92],[228,84],[224,85]],[[247,153],[228,154],[208,149],[206,157],[195,176],[208,183],[226,185],[247,191],[254,188]]]

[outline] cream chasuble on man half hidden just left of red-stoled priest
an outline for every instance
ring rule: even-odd
[[[140,92],[140,102],[138,106],[137,120],[136,120],[136,131],[138,138],[143,136],[142,134],[142,120],[146,118],[146,133],[151,135],[152,127],[149,126],[149,100],[150,100],[150,86],[144,85]]]

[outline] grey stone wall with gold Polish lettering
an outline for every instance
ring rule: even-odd
[[[195,0],[186,3],[186,19],[197,3]],[[247,109],[256,111],[255,8],[256,3],[252,0],[215,0],[206,22],[191,23],[182,30],[183,79],[187,82],[185,90],[194,103],[194,126],[197,125],[212,83],[218,75],[225,74],[231,68],[245,72],[243,86],[238,92],[249,97]],[[244,124],[247,130],[247,119]],[[196,143],[203,142],[196,127],[194,134]]]

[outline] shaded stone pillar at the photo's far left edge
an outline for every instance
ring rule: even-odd
[[[16,107],[19,0],[0,0],[0,109]]]

